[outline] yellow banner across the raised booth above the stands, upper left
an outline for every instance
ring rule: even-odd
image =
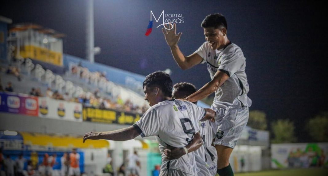
[[[30,58],[57,66],[63,66],[63,54],[60,52],[51,51],[47,48],[25,45],[20,47],[19,53],[23,58]]]

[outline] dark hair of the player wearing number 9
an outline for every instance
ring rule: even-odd
[[[142,88],[158,86],[166,97],[172,97],[172,79],[170,75],[163,71],[156,71],[147,75],[146,79],[142,83]]]

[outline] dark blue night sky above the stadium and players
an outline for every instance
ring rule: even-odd
[[[222,13],[228,22],[228,38],[246,57],[250,85],[250,110],[261,110],[268,121],[289,118],[295,122],[298,141],[308,141],[307,119],[328,110],[325,87],[327,32],[326,12],[315,1],[149,1],[95,0],[95,46],[101,54],[95,62],[141,75],[172,70],[174,82],[188,81],[202,87],[210,81],[205,64],[182,71],[171,55],[161,31],[154,23],[145,36],[152,10],[182,14],[178,43],[185,55],[192,54],[205,37],[200,26],[210,13]],[[64,53],[85,58],[86,3],[82,0],[11,0],[0,6],[0,15],[13,24],[36,23],[67,36]],[[109,78],[110,79],[110,78]]]

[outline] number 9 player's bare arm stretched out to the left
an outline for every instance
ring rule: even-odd
[[[113,141],[127,141],[134,139],[139,135],[137,129],[133,126],[128,128],[123,128],[120,130],[115,130],[111,132],[87,132],[83,137],[83,142],[87,139],[98,140],[107,139]]]

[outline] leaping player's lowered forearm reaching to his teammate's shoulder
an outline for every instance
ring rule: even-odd
[[[201,100],[213,92],[215,92],[227,79],[229,79],[229,76],[218,70],[213,80],[205,84],[202,88],[200,88],[197,92],[191,94],[190,96],[186,97],[185,99],[190,102],[195,102],[198,100]]]

